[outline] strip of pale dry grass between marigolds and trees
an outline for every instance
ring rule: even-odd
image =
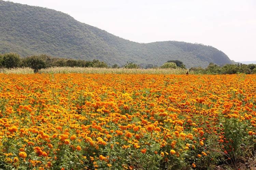
[[[125,68],[84,68],[84,67],[51,67],[42,69],[39,73],[113,73],[113,74],[185,74],[186,69],[125,69]],[[0,69],[6,74],[32,74],[31,68]]]

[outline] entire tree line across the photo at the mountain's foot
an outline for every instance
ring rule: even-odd
[[[0,68],[20,68],[29,67],[37,73],[40,69],[48,67],[95,67],[95,68],[120,68],[117,64],[108,66],[105,62],[99,60],[86,61],[86,60],[75,60],[67,58],[52,57],[45,54],[32,55],[25,58],[19,56],[16,53],[5,53],[0,54]],[[121,66],[123,68],[141,68],[138,64],[127,62]],[[169,60],[162,66],[148,64],[144,68],[182,68],[186,69],[183,62],[179,60]],[[189,72],[195,74],[236,74],[245,73],[252,74],[256,73],[256,64],[226,64],[224,66],[218,66],[214,63],[210,63],[207,68],[192,67]]]

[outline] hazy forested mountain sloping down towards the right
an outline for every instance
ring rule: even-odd
[[[98,59],[110,65],[127,61],[162,65],[168,60],[180,60],[189,68],[207,67],[211,62],[232,63],[225,53],[211,46],[179,41],[136,43],[62,12],[0,0],[0,53],[5,52]]]

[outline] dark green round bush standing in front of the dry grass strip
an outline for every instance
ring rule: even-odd
[[[32,68],[34,73],[37,73],[42,68],[47,68],[46,62],[38,55],[26,57],[23,62],[25,66]]]

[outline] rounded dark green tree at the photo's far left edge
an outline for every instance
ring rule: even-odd
[[[4,68],[17,68],[20,65],[20,56],[16,53],[6,53],[0,57],[0,66]]]

